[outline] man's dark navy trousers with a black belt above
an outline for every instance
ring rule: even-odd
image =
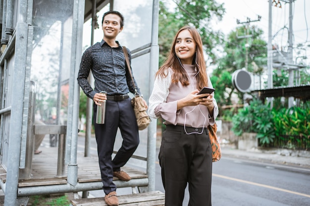
[[[96,124],[97,105],[94,104],[95,135],[98,158],[103,181],[103,191],[109,194],[116,191],[113,183],[113,171],[119,171],[139,145],[139,130],[131,99],[121,101],[106,100],[104,124]],[[120,129],[123,142],[112,160],[117,129]]]

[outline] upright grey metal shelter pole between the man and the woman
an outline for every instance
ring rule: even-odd
[[[158,56],[159,56],[158,11],[159,11],[159,0],[153,0],[149,94],[152,93],[155,73],[158,71]],[[157,127],[157,120],[153,120],[148,127],[148,161],[147,161],[147,174],[149,177],[148,191],[155,190],[156,127]]]

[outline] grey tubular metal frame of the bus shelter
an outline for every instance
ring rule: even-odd
[[[79,70],[82,56],[82,31],[84,24],[85,0],[74,1],[72,18],[72,44],[71,44],[71,68],[69,79],[69,100],[68,100],[68,122],[67,125],[34,125],[33,106],[35,86],[30,82],[30,59],[32,52],[32,0],[18,0],[18,5],[13,1],[2,0],[1,11],[2,23],[5,32],[1,34],[1,43],[7,44],[0,56],[0,75],[3,84],[0,84],[1,92],[7,89],[6,69],[9,59],[14,61],[14,104],[4,107],[4,96],[1,95],[1,124],[0,124],[0,147],[2,149],[2,135],[4,115],[10,115],[8,151],[10,158],[7,160],[6,183],[0,181],[0,187],[5,194],[4,206],[17,206],[27,204],[28,196],[79,192],[102,189],[102,182],[78,183],[77,182],[77,138],[78,138],[78,113],[80,88],[76,77]],[[96,2],[96,1],[95,1]],[[101,0],[100,2],[107,2]],[[98,5],[98,4],[96,4]],[[19,6],[19,17],[14,28],[14,6]],[[101,5],[100,5],[101,6]],[[113,0],[110,0],[110,7],[113,7]],[[153,0],[152,16],[152,40],[150,44],[133,50],[133,58],[150,53],[150,85],[154,83],[154,75],[158,70],[158,10],[159,0]],[[18,46],[17,46],[18,45]],[[149,88],[151,93],[153,88]],[[7,97],[6,97],[7,98]],[[21,118],[23,117],[23,118]],[[48,128],[48,129],[47,129]],[[50,130],[47,132],[47,130]],[[61,134],[58,144],[57,176],[62,176],[65,165],[67,170],[67,184],[18,187],[19,177],[29,177],[31,171],[31,145],[24,150],[26,142],[32,142],[29,136],[34,134]],[[28,138],[27,138],[28,136]],[[28,144],[29,145],[29,144]],[[144,187],[147,191],[155,190],[155,148],[156,148],[156,121],[152,121],[148,127],[148,151],[147,157],[133,156],[140,160],[147,161],[148,178],[132,179],[130,182],[115,181],[117,187]]]

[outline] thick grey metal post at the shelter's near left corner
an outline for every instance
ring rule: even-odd
[[[10,158],[7,160],[6,170],[6,191],[4,206],[15,206],[17,201],[17,188],[19,177],[19,159],[20,159],[20,144],[22,132],[23,117],[23,97],[25,91],[25,65],[28,41],[28,25],[18,22],[16,25],[16,47],[14,58],[14,97],[12,98],[12,111],[9,129],[8,151]],[[17,46],[18,45],[18,46]]]

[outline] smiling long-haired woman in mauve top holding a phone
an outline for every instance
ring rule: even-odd
[[[163,118],[166,130],[159,151],[165,206],[182,206],[189,184],[189,206],[211,206],[212,158],[207,125],[218,107],[213,94],[197,94],[212,87],[207,76],[201,37],[185,26],[175,35],[165,63],[155,75],[149,115]]]

